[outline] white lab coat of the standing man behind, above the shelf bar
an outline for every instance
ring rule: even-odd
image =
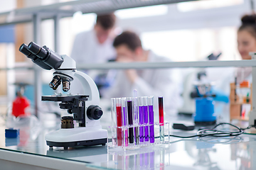
[[[97,41],[95,30],[79,33],[75,37],[70,57],[77,63],[101,63],[114,59],[116,52],[113,40],[108,38],[103,44]]]

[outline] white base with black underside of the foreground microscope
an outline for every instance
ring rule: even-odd
[[[107,130],[101,126],[90,128],[60,129],[46,135],[46,144],[49,147],[79,147],[92,145],[106,145]]]

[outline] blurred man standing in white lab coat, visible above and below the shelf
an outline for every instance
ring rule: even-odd
[[[115,60],[116,52],[113,47],[114,26],[116,16],[114,13],[97,15],[95,26],[90,31],[79,33],[75,37],[72,57],[77,64],[102,63]],[[110,86],[108,71],[84,70],[97,84],[98,89]],[[108,76],[108,77],[107,77]],[[71,92],[73,94],[83,94],[81,84],[73,81]]]

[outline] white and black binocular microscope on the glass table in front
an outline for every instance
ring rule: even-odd
[[[86,95],[56,94],[42,96],[42,101],[60,102],[61,109],[67,109],[73,116],[63,116],[60,130],[46,135],[46,144],[50,147],[77,147],[91,145],[106,145],[107,130],[102,129],[100,118],[103,114],[100,108],[100,95],[95,82],[85,73],[76,70],[75,61],[67,55],[58,55],[48,47],[39,46],[35,42],[22,44],[19,48],[26,57],[43,69],[55,69],[50,88],[58,89],[62,84],[63,91],[70,90],[70,82],[78,79]],[[74,128],[73,120],[79,127]]]

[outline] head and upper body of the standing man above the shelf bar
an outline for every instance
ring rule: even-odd
[[[115,21],[114,13],[98,15],[92,30],[76,35],[70,57],[77,63],[99,63],[114,59],[116,53],[112,43]]]

